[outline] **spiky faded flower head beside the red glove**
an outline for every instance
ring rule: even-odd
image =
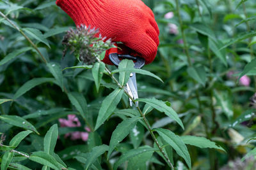
[[[86,27],[85,25],[78,26],[76,30],[67,31],[62,41],[62,45],[65,46],[63,57],[67,53],[67,49],[70,48],[71,53],[74,52],[78,60],[86,64],[93,64],[96,57],[113,47],[111,39],[106,40],[100,34],[97,38],[98,33],[99,29],[90,29],[90,26]]]

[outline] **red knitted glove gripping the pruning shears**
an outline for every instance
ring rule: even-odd
[[[132,49],[125,52],[143,57],[146,64],[156,57],[159,29],[154,13],[141,0],[57,0],[56,4],[76,25],[99,28],[102,37],[124,43]],[[108,52],[103,61],[111,64]]]

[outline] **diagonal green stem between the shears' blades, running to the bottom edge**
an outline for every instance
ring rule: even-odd
[[[96,57],[97,61],[100,62],[100,59],[98,57]],[[120,89],[124,89],[125,94],[132,100],[132,102],[135,105],[135,100],[133,99],[132,96],[129,95],[129,93],[125,90],[125,87],[122,86],[118,80],[116,80],[115,76],[113,76],[113,74],[111,73],[111,71],[109,71],[109,69],[107,67],[105,67],[105,71],[108,73],[108,75],[115,81],[116,85],[118,85],[118,87]],[[168,158],[168,156],[164,153],[163,148],[161,148],[161,146],[159,145],[159,142],[156,139],[156,136],[154,135],[154,132],[152,130],[152,128],[150,127],[150,124],[148,124],[148,120],[145,117],[145,115],[142,113],[140,107],[136,107],[137,110],[140,112],[141,117],[143,118],[143,121],[145,122],[145,124],[147,125],[147,129],[150,132],[152,138],[154,139],[154,142],[156,143],[157,147],[159,148],[159,151],[163,154],[164,158],[167,160],[169,166],[174,169],[171,160]]]

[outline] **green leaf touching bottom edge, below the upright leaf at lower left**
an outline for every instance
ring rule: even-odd
[[[29,160],[32,160],[32,161],[42,164],[44,166],[49,166],[52,169],[56,169],[56,170],[61,169],[59,167],[57,160],[54,157],[52,157],[52,155],[49,155],[48,153],[45,153],[42,151],[33,152],[30,155]]]

